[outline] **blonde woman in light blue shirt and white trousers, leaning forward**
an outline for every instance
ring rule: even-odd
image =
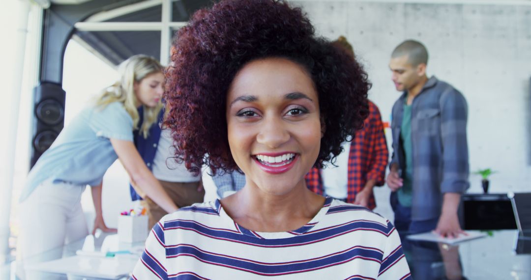
[[[92,187],[96,208],[94,231],[112,231],[101,215],[101,182],[117,158],[147,196],[169,213],[177,209],[133,143],[138,107],[143,106],[139,129],[144,137],[157,121],[162,107],[162,66],[154,58],[136,55],[120,65],[119,74],[120,80],[62,130],[29,173],[20,204],[20,250],[25,264],[60,258],[62,250],[43,252],[88,234],[80,203],[87,185]]]

